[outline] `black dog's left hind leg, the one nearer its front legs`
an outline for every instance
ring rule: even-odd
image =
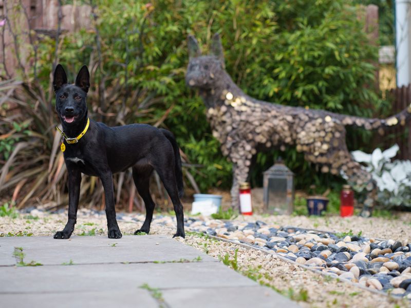
[[[144,232],[147,234],[150,232],[150,225],[153,219],[154,207],[156,206],[150,195],[150,176],[152,174],[152,171],[152,167],[150,167],[150,169],[144,170],[144,172],[133,168],[134,184],[136,185],[137,191],[140,194],[141,198],[143,198],[145,205],[145,220],[143,226],[140,229],[136,230],[136,232],[134,233],[135,235],[139,232]]]

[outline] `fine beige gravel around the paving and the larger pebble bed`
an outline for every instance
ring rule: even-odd
[[[123,234],[133,234],[144,220],[143,215],[120,214],[119,226]],[[62,229],[66,222],[66,214],[47,214],[32,210],[30,214],[20,214],[17,218],[0,217],[0,236],[32,235],[52,236],[56,230]],[[199,219],[200,217],[195,217]],[[402,214],[396,219],[371,218],[363,219],[351,217],[290,217],[290,216],[253,216],[238,217],[234,223],[255,222],[260,220],[270,225],[292,225],[303,228],[315,228],[332,232],[348,232],[364,236],[386,238],[393,240],[411,240],[411,215]],[[218,222],[218,221],[217,221]],[[221,223],[221,222],[219,222]],[[175,223],[170,216],[156,216],[151,233],[167,234],[175,232]],[[188,230],[189,228],[186,228]],[[74,235],[106,234],[106,219],[104,215],[90,213],[89,210],[80,210]],[[235,244],[216,241],[197,234],[190,234],[186,239],[177,239],[197,249],[207,252],[217,259],[224,259],[225,263],[252,279],[270,285],[275,290],[289,296],[307,307],[317,306],[357,306],[371,307],[378,303],[379,307],[406,307],[406,299],[397,299],[390,296],[373,294],[357,286],[323,277],[301,267],[290,264],[277,258],[275,255],[266,255],[263,252],[247,249]],[[235,249],[238,248],[235,259]]]

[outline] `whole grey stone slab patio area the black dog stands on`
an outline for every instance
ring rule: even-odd
[[[44,265],[10,266],[14,247],[23,248],[25,262]],[[172,262],[198,256],[199,262]],[[70,260],[74,265],[61,265]],[[296,307],[169,236],[0,238],[0,265],[2,307],[158,306],[143,284],[159,288],[166,307]]]

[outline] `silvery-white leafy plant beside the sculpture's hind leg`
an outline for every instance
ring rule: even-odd
[[[359,150],[352,152],[354,160],[364,163],[365,169],[377,183],[378,202],[385,207],[411,206],[411,161],[391,162],[398,149],[398,145],[394,145],[383,152],[377,148],[372,154]],[[354,189],[361,192],[365,187],[354,186]]]

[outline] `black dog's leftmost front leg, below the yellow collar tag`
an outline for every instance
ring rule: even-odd
[[[78,168],[67,168],[68,171],[68,221],[62,231],[54,234],[55,239],[68,239],[74,230],[79,207],[81,172]]]

